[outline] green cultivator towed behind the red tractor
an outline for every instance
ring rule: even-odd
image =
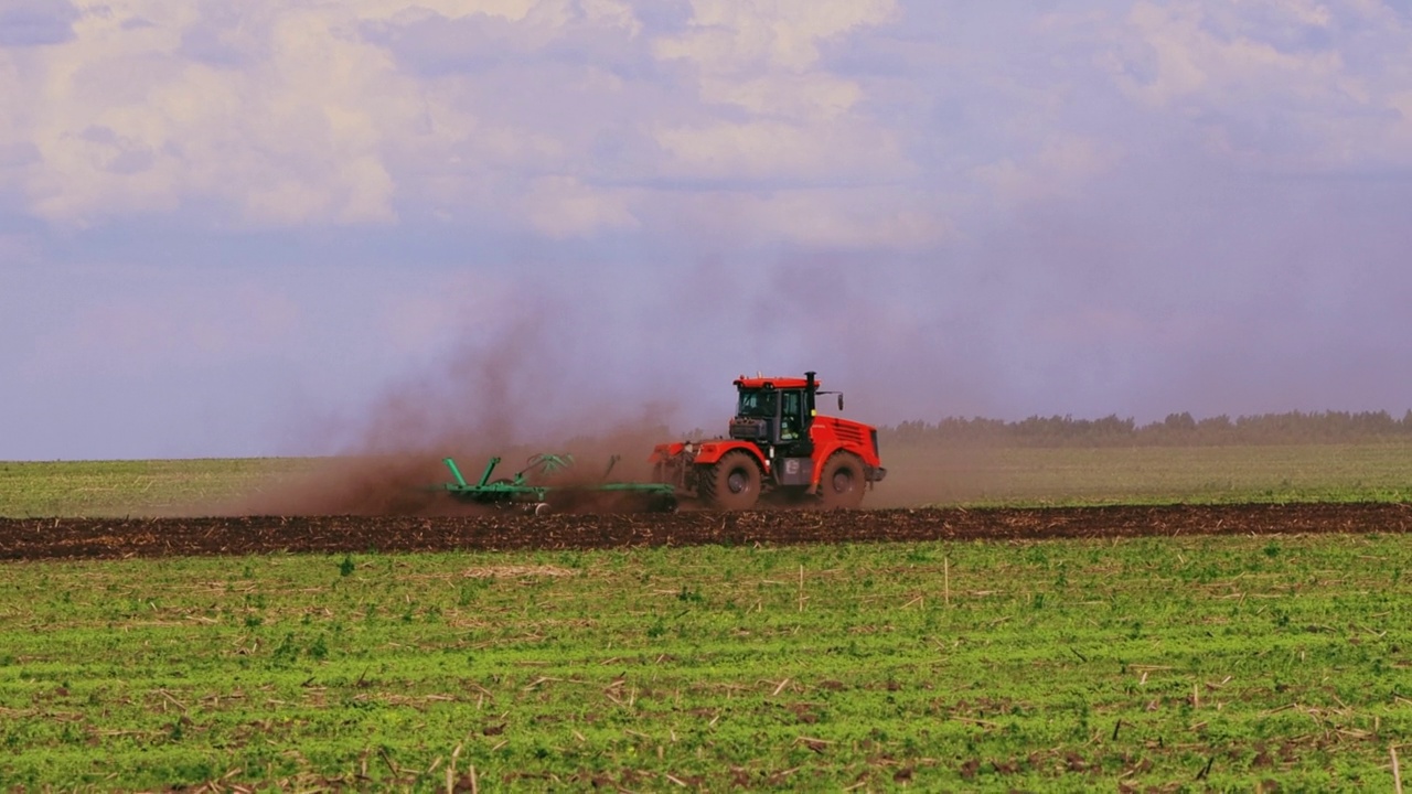
[[[648,510],[668,513],[676,509],[676,490],[671,483],[610,482],[607,476],[617,463],[609,462],[599,482],[578,483],[565,475],[573,466],[572,455],[534,455],[511,478],[491,479],[500,458],[491,458],[480,479],[470,482],[460,473],[456,461],[443,458],[453,482],[432,486],[459,502],[493,507],[522,507],[542,516],[555,509],[589,510]]]

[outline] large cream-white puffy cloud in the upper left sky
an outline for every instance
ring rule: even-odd
[[[186,3],[89,10],[72,44],[35,54],[44,79],[18,131],[42,158],[27,181],[34,212],[86,223],[215,198],[253,223],[394,219],[385,155],[417,137],[417,86],[347,35],[337,7],[249,14],[263,38],[226,40],[251,49],[246,68],[179,55],[201,21]]]

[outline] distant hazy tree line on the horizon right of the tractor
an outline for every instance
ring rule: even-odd
[[[1387,411],[1322,411],[1193,418],[1189,413],[1139,425],[1131,418],[1029,417],[1019,421],[947,417],[880,427],[887,446],[1220,446],[1252,444],[1356,444],[1412,441],[1412,411],[1401,420]]]

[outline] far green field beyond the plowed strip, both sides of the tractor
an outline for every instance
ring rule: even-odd
[[[1412,445],[898,448],[874,507],[1161,502],[1404,502]],[[318,459],[0,462],[0,516],[199,511]]]

